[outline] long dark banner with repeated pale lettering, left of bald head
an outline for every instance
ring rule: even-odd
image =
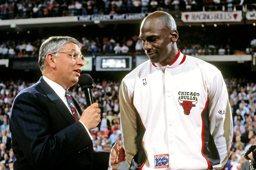
[[[133,20],[144,19],[145,13],[131,13],[131,14],[108,14],[108,15],[85,15],[78,16],[78,21],[110,21],[110,20]]]

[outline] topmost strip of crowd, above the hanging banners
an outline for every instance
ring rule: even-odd
[[[2,0],[0,19],[147,13],[161,11],[234,10],[253,0]],[[252,9],[255,9],[252,5]]]

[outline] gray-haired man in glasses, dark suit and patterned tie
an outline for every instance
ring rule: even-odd
[[[50,37],[42,43],[43,76],[17,95],[9,118],[15,170],[107,170],[126,160],[118,143],[110,153],[93,150],[89,130],[100,122],[98,104],[82,111],[67,91],[84,65],[80,48],[71,37]]]

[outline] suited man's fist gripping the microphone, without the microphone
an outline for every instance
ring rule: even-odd
[[[89,130],[98,126],[100,122],[100,109],[98,109],[98,107],[98,103],[93,103],[83,112],[79,119],[86,125]]]

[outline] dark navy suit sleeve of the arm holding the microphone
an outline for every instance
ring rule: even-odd
[[[24,154],[35,168],[68,161],[92,143],[80,122],[66,125],[59,132],[51,129],[53,123],[61,126],[66,122],[62,122],[63,118],[58,119],[59,113],[56,113],[56,119],[51,119],[49,109],[54,110],[54,104],[42,102],[46,101],[43,98],[46,97],[30,92],[19,94],[13,102],[9,119],[12,145],[20,147],[15,154],[21,158]]]

